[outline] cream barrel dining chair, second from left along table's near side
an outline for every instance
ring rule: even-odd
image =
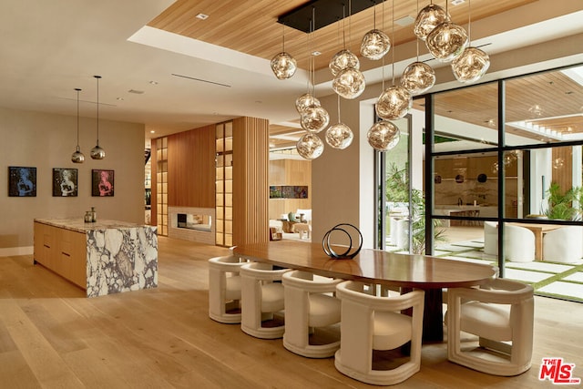
[[[240,267],[240,329],[261,339],[283,336],[283,285],[281,276],[289,269],[274,269],[271,264],[251,262]]]

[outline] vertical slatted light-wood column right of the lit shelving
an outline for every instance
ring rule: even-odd
[[[269,122],[233,120],[233,245],[269,241]]]

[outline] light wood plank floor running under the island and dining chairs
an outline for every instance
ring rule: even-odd
[[[2,388],[360,388],[333,358],[288,352],[208,316],[210,257],[219,247],[159,238],[159,287],[87,299],[31,256],[0,258]],[[533,367],[504,378],[446,360],[424,345],[404,388],[538,388],[543,357],[576,363],[583,377],[583,305],[536,298]]]

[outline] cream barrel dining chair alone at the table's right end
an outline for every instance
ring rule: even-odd
[[[530,285],[498,278],[479,289],[450,288],[447,300],[449,361],[505,376],[530,368],[534,322]]]

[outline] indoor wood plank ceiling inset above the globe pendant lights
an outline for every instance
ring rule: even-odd
[[[534,1],[472,0],[471,18],[476,21]],[[267,59],[271,59],[281,51],[282,37],[285,36],[285,51],[296,58],[299,67],[307,68],[309,51],[306,47],[306,34],[277,23],[278,16],[306,3],[309,2],[306,0],[178,0],[154,18],[148,26]],[[385,1],[384,4],[351,15],[341,23],[334,23],[317,30],[312,34],[310,50],[310,52],[317,50],[322,53],[315,59],[316,69],[328,67],[330,58],[343,48],[344,27],[346,47],[355,54],[359,53],[361,38],[374,25],[383,29],[390,37],[394,33],[394,37],[391,38],[393,46],[413,41],[415,36],[412,24],[399,26],[396,23],[393,24],[392,21],[406,16],[414,18],[417,15],[417,9],[429,3],[427,0]],[[468,1],[455,6],[446,5],[445,0],[435,0],[434,3],[444,8],[447,6],[456,24],[467,24]],[[209,15],[209,18],[200,20],[196,17],[198,14]],[[315,15],[315,18],[317,19],[318,15]]]

